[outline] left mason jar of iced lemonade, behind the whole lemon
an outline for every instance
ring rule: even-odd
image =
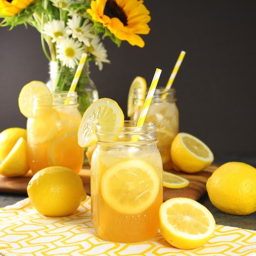
[[[81,122],[77,93],[52,92],[53,105],[37,98],[33,118],[27,120],[28,160],[33,174],[49,166],[64,166],[77,174],[84,162],[84,149],[78,145]]]

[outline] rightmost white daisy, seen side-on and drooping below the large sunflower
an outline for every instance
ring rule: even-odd
[[[102,70],[104,63],[110,63],[107,59],[108,54],[102,42],[100,42],[100,37],[94,37],[91,40],[91,46],[89,47],[89,52],[95,56],[95,64],[99,66],[99,69]]]

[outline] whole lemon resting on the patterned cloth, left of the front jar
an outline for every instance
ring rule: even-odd
[[[74,213],[85,200],[82,180],[72,169],[52,166],[38,171],[27,187],[31,204],[39,213],[50,217]]]

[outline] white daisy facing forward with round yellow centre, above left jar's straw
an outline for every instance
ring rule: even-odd
[[[75,68],[78,65],[83,53],[82,43],[67,37],[57,42],[56,48],[56,59],[59,59],[63,65],[69,68]]]

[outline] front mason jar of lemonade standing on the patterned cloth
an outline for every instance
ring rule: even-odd
[[[163,203],[163,165],[156,147],[156,125],[97,126],[91,159],[91,214],[98,236],[135,243],[152,239]]]

